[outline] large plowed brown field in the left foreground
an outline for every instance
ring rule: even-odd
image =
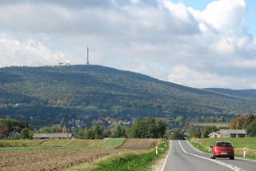
[[[64,170],[73,165],[97,160],[122,150],[67,150],[6,151],[0,153],[0,170]]]

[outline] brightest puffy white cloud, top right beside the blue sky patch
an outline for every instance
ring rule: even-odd
[[[222,0],[210,2],[205,10],[189,8],[198,21],[202,34],[215,34],[214,49],[220,54],[236,55],[239,50],[254,48],[254,40],[247,33],[246,1]]]

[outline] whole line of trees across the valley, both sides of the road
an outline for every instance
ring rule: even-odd
[[[177,117],[182,122],[182,117]],[[184,139],[185,137],[208,137],[212,132],[219,130],[215,125],[193,128],[187,125],[181,127],[168,127],[168,119],[145,117],[133,121],[131,127],[114,125],[114,127],[103,127],[92,125],[87,128],[75,130],[74,137],[82,139],[102,139],[103,137],[134,137],[134,138],[162,138]],[[173,122],[172,122],[173,123]],[[176,124],[177,125],[177,124]],[[256,116],[238,116],[230,120],[230,129],[246,129],[248,137],[256,137]],[[26,121],[18,121],[10,118],[0,118],[0,139],[6,139],[14,133],[12,139],[32,138],[33,133],[60,133],[63,128],[58,126],[44,126],[33,130]],[[18,134],[15,134],[18,133]]]

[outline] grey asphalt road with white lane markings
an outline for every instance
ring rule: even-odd
[[[229,158],[210,159],[210,154],[200,153],[187,141],[172,141],[164,171],[256,171],[255,161]]]

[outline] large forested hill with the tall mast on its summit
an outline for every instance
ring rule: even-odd
[[[104,66],[0,69],[0,117],[34,125],[88,123],[98,117],[214,116],[256,112],[254,98],[162,82]]]

